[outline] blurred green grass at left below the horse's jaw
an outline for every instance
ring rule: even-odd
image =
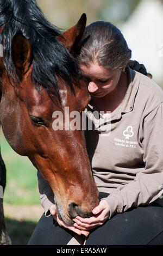
[[[36,169],[28,157],[15,153],[1,132],[1,153],[7,168],[4,202],[8,204],[40,204]]]

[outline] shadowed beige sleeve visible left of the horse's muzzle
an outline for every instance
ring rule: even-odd
[[[40,193],[40,200],[43,209],[45,210],[45,216],[50,216],[49,208],[54,204],[54,193],[51,190],[51,187],[48,185],[48,182],[43,179],[42,175],[37,172],[38,186]]]

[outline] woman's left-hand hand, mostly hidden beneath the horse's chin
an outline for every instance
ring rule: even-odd
[[[80,230],[80,229],[78,229],[76,227],[73,227],[73,226],[71,227],[71,226],[67,225],[65,222],[61,221],[60,218],[58,217],[57,209],[56,209],[55,204],[50,207],[49,211],[51,212],[51,215],[53,216],[55,221],[57,221],[57,223],[61,227],[67,228],[67,229],[73,231],[74,233],[77,233],[78,235],[85,235],[85,236],[89,235],[89,231]]]

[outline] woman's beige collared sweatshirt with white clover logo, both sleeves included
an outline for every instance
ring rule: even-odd
[[[105,198],[109,218],[162,198],[163,91],[139,72],[127,68],[127,74],[126,95],[110,117],[99,114],[95,118],[91,104],[85,109],[87,119],[96,125],[95,131],[85,131],[85,138],[98,190],[109,193]],[[40,174],[38,179],[41,204],[48,216],[54,194]],[[162,204],[162,200],[156,202]]]

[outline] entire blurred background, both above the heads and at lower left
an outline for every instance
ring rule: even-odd
[[[87,25],[104,20],[121,29],[132,58],[145,64],[163,88],[163,0],[37,0],[45,16],[58,28],[77,23],[82,13]],[[37,189],[36,169],[17,155],[1,132],[2,156],[7,167],[4,209],[7,227],[16,245],[26,245],[43,210]]]

